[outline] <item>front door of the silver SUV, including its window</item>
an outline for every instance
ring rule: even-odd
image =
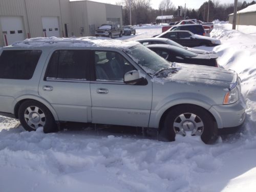
[[[152,105],[152,82],[123,83],[124,73],[136,70],[120,53],[95,51],[95,78],[91,81],[92,122],[148,126]]]

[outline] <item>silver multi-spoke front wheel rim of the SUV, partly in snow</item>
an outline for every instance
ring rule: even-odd
[[[201,118],[193,113],[183,113],[174,120],[173,128],[176,134],[186,136],[186,132],[191,132],[192,136],[201,136],[204,124]]]

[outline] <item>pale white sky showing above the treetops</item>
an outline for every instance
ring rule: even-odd
[[[77,1],[77,0],[70,0],[70,1]],[[94,2],[101,2],[101,3],[109,3],[109,4],[116,4],[116,2],[120,2],[121,0],[91,0]],[[186,3],[186,8],[188,9],[199,9],[200,6],[206,2],[207,0],[172,0],[173,4],[177,6],[185,6]],[[220,4],[224,3],[234,3],[234,0],[219,0]],[[242,0],[244,1],[244,0]],[[154,9],[158,9],[159,3],[161,0],[151,0],[151,6]],[[252,0],[246,0],[246,2],[252,2]]]

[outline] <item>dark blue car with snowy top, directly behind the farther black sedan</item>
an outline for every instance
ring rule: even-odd
[[[190,31],[194,34],[205,36],[204,28],[200,24],[177,25],[167,31]]]

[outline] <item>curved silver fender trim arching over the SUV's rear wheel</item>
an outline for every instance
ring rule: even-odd
[[[38,96],[35,96],[35,95],[23,95],[23,96],[20,96],[20,97],[18,97],[14,100],[13,109],[14,109],[15,118],[18,119],[19,106],[23,102],[28,101],[28,100],[33,100],[33,101],[37,101],[41,104],[44,104],[50,110],[50,112],[52,113],[55,121],[58,121],[58,115],[57,115],[56,111],[53,109],[52,105],[48,101],[46,101],[45,99],[43,99],[41,97],[38,97]]]

